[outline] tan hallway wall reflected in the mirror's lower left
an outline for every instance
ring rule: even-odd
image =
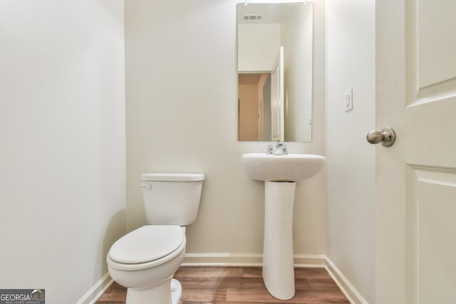
[[[258,85],[239,85],[239,140],[258,140]]]

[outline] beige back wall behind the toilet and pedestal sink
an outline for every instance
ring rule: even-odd
[[[127,226],[145,224],[143,172],[203,172],[202,201],[187,253],[261,253],[264,184],[240,157],[264,150],[237,141],[236,1],[125,1]],[[314,142],[324,154],[323,1],[316,4]],[[326,253],[324,172],[296,188],[294,249]]]

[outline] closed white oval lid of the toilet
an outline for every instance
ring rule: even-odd
[[[118,239],[109,257],[118,263],[137,264],[155,261],[175,251],[185,239],[180,226],[142,226]]]

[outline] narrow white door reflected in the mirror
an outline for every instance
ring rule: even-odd
[[[284,47],[281,46],[271,70],[272,140],[284,140]]]

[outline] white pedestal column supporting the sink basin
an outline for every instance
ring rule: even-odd
[[[280,300],[294,297],[293,204],[296,182],[264,182],[263,280]]]

